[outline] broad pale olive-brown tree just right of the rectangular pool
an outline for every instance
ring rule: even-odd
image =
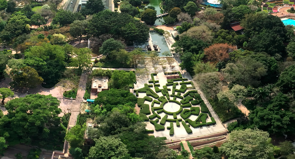
[[[182,26],[182,28],[186,30],[184,26]],[[200,39],[208,43],[210,43],[213,39],[212,32],[207,26],[204,25],[188,28],[187,32],[184,32],[180,35],[180,38],[184,36],[188,36],[193,39]]]

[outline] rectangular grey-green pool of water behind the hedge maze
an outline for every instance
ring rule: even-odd
[[[149,32],[149,33],[151,35],[151,38],[152,38],[151,40],[153,42],[153,45],[158,45],[161,48],[160,49],[161,52],[159,52],[160,57],[165,56],[165,55],[162,54],[165,51],[168,51],[169,53],[171,53],[170,49],[168,48],[167,42],[166,42],[163,35],[160,35],[160,34],[158,34],[156,32]]]

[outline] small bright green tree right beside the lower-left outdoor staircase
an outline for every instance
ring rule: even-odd
[[[70,143],[70,147],[72,149],[75,149],[77,147],[81,147],[84,145],[85,130],[86,130],[86,124],[84,124],[83,126],[75,125],[67,132],[66,137],[64,137],[64,139]]]

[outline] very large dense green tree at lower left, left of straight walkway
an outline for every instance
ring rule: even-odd
[[[51,95],[30,94],[5,104],[9,115],[2,117],[1,135],[10,145],[26,143],[58,145],[66,128],[59,126],[60,101]]]

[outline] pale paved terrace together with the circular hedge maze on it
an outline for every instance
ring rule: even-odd
[[[177,78],[168,79],[171,75]],[[139,115],[154,136],[180,138],[225,129],[216,114],[209,111],[201,91],[195,90],[193,82],[183,78],[180,72],[152,73],[148,83],[138,86],[134,92]]]

